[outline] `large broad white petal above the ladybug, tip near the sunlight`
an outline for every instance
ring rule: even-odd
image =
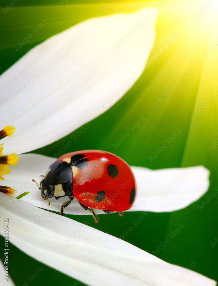
[[[17,129],[4,139],[4,151],[21,154],[52,143],[119,100],[145,68],[156,19],[156,8],[88,19],[9,68],[0,77],[0,113]]]

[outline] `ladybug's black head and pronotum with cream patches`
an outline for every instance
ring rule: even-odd
[[[44,200],[59,199],[73,193],[73,174],[69,163],[57,161],[51,164],[40,182],[41,196]],[[50,204],[50,202],[49,202]]]

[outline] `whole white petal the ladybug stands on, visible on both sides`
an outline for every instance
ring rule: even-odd
[[[5,175],[5,180],[1,184],[15,188],[19,194],[29,191],[31,193],[21,200],[34,206],[59,212],[61,204],[67,201],[68,197],[59,200],[51,198],[51,204],[48,206],[48,202],[41,198],[37,185],[32,182],[32,179],[38,183],[41,181],[40,175],[46,173],[49,166],[55,162],[55,158],[38,154],[22,154],[19,157],[17,166],[11,167],[10,174]],[[143,167],[131,168],[136,178],[138,194],[129,211],[169,212],[178,210],[199,199],[209,186],[209,171],[203,166],[161,170],[150,170]],[[175,188],[171,185],[173,187],[175,185]],[[73,215],[91,215],[89,211],[81,208],[76,199],[64,209],[64,212]],[[101,210],[96,210],[96,214],[102,213]]]

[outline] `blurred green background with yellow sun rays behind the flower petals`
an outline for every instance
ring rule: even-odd
[[[157,257],[169,263],[187,268],[195,261],[194,271],[216,281],[218,245],[211,245],[211,242],[218,237],[218,147],[215,145],[218,137],[217,2],[162,0],[135,3],[115,0],[105,11],[109,0],[20,0],[7,11],[7,5],[12,1],[2,0],[0,7],[1,73],[48,37],[85,19],[98,17],[99,13],[130,13],[142,7],[157,7],[157,37],[142,76],[117,104],[85,124],[87,130],[66,153],[99,149],[120,156],[132,166],[161,169],[203,165],[208,168],[211,184],[199,201],[171,213],[148,212],[149,215],[124,240],[149,253],[155,252]],[[49,22],[16,51],[19,41],[44,18]],[[140,116],[146,118],[145,122],[114,149],[113,144],[138,122]],[[166,143],[176,129],[180,129],[181,134],[151,161],[149,156],[153,156],[153,152]],[[54,156],[62,144],[71,140],[72,134],[34,152]],[[206,203],[207,196],[213,192],[215,197]],[[206,202],[199,210],[202,200]],[[66,216],[120,238],[141,215],[141,212],[126,212],[124,217],[118,217],[117,213],[99,215],[97,225],[92,216]],[[169,238],[179,224],[183,224],[184,229],[157,253],[156,247]],[[25,285],[25,282],[31,286],[79,285],[78,281],[39,263],[13,245],[10,249],[9,274],[16,286]],[[45,271],[31,281],[28,277],[37,271],[37,267]]]

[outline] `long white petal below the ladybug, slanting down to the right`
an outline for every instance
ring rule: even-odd
[[[10,241],[35,259],[93,286],[215,286],[216,282],[161,259],[111,235],[0,194],[3,235],[9,218]],[[84,277],[81,279],[80,277]],[[131,278],[130,278],[131,279]]]

